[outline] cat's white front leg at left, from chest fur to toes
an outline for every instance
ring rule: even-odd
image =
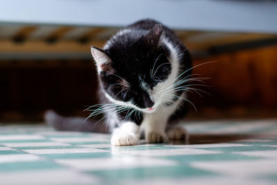
[[[113,146],[132,146],[139,142],[139,126],[134,122],[122,123],[114,129],[111,136]]]

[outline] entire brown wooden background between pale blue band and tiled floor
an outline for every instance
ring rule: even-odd
[[[41,120],[48,108],[69,115],[84,114],[85,105],[97,103],[90,46],[102,47],[118,29],[0,25],[0,119]],[[228,44],[250,42],[251,47],[251,42],[259,40],[276,41],[276,35],[175,32],[193,53],[195,66],[217,61],[194,69],[195,74],[211,78],[206,80],[211,87],[201,87],[211,96],[191,97],[199,111],[199,114],[192,111],[193,116],[222,115],[217,112],[242,116],[269,112],[277,116],[277,43],[216,55],[210,52]]]

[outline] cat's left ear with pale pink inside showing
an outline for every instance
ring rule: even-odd
[[[98,73],[100,73],[101,71],[105,73],[114,73],[114,69],[111,66],[111,58],[109,58],[105,51],[91,46],[91,55],[96,61]]]

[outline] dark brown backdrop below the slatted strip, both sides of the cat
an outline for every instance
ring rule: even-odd
[[[199,87],[210,95],[191,97],[190,114],[277,116],[277,46],[195,58],[193,73],[206,80]],[[97,78],[92,60],[2,60],[0,62],[0,119],[42,118],[45,109],[86,115],[86,105],[97,103]],[[222,112],[224,112],[222,114]],[[26,117],[27,116],[27,117]],[[224,117],[224,116],[223,116]]]

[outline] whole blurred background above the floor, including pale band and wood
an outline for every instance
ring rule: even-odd
[[[88,116],[97,103],[90,46],[139,19],[175,30],[211,95],[188,118],[277,117],[277,1],[0,1],[0,121],[43,121],[46,109]]]

